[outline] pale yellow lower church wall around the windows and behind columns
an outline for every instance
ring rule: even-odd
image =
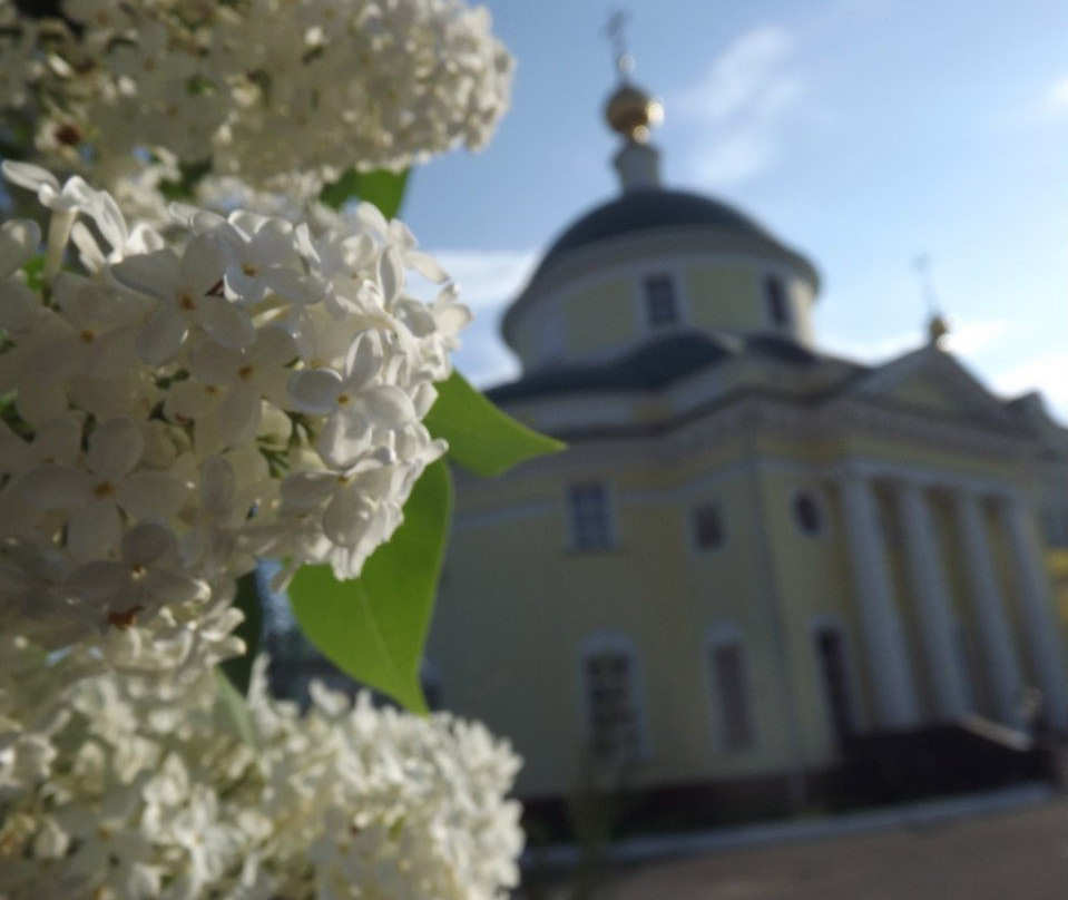
[[[462,616],[440,617],[430,658],[441,666],[447,705],[484,718],[528,757],[521,795],[559,793],[582,779],[587,738],[580,661],[584,642],[599,633],[624,635],[638,650],[649,754],[635,767],[633,786],[783,773],[798,756],[807,770],[835,764],[840,753],[814,624],[844,629],[861,728],[875,723],[873,674],[864,666],[840,498],[833,479],[807,473],[847,457],[998,480],[1010,473],[1007,463],[949,457],[904,441],[827,438],[798,443],[781,432],[702,441],[685,452],[675,446],[669,453],[665,448],[663,457],[650,456],[651,450],[644,441],[633,447],[580,444],[566,458],[526,468],[520,478],[469,481],[459,495],[461,527],[441,604],[443,610],[467,608]],[[570,548],[566,487],[587,478],[610,485],[619,537],[613,549]],[[794,519],[793,501],[801,490],[820,498],[824,527],[819,535],[804,534]],[[884,521],[891,522],[891,493],[880,487],[878,497]],[[990,685],[983,682],[952,510],[947,495],[935,492],[932,500],[972,686],[980,712],[990,715]],[[703,501],[721,506],[728,536],[724,547],[704,552],[694,547],[690,534],[693,510]],[[996,522],[989,526],[997,536]],[[925,686],[903,541],[900,535],[888,538],[894,596],[929,715],[934,704]],[[1002,538],[992,542],[991,552],[1019,630]],[[1068,597],[1064,601],[1068,616]],[[776,615],[782,616],[778,630]],[[450,623],[461,619],[477,623],[472,634],[449,633],[455,627]],[[753,747],[743,752],[723,746],[709,672],[709,637],[732,628],[744,640],[756,733]],[[478,669],[462,653],[468,640],[481,648]],[[1023,653],[1022,643],[1020,648]],[[525,673],[535,671],[542,683],[530,693],[541,698],[540,705],[517,707],[515,698],[526,693]]]

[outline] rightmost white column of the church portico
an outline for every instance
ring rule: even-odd
[[[1042,692],[1042,712],[1056,731],[1068,731],[1068,677],[1065,672],[1065,645],[1060,623],[1054,615],[1049,578],[1027,507],[1019,499],[1001,506],[1012,567],[1020,586],[1020,613],[1023,634],[1035,664],[1038,687]]]

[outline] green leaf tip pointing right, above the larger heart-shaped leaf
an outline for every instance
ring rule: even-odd
[[[435,438],[449,441],[449,457],[474,475],[500,475],[525,460],[559,453],[567,447],[501,412],[459,372],[453,371],[437,388],[438,400],[423,424]]]

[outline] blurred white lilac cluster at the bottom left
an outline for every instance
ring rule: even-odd
[[[210,671],[160,691],[0,638],[0,897],[501,900],[519,765],[447,714],[313,685],[304,716],[255,668],[244,727]]]

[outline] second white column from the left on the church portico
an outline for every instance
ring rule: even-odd
[[[960,718],[973,712],[971,692],[958,661],[957,622],[934,519],[919,485],[896,486],[894,498],[935,710],[943,718]]]

